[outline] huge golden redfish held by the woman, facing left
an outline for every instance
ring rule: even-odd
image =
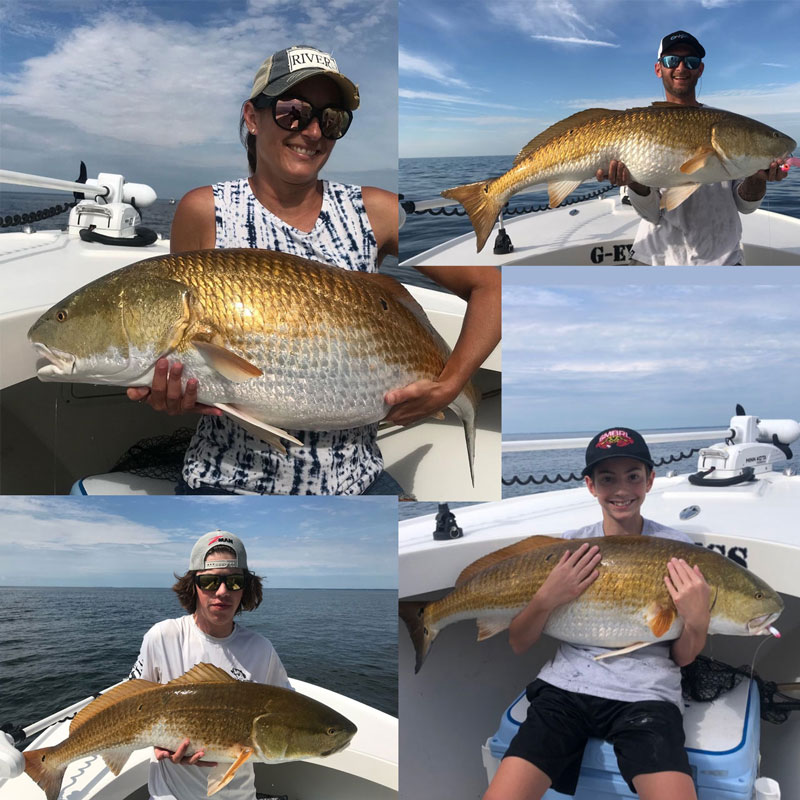
[[[78,289],[28,338],[50,362],[43,381],[149,386],[156,361],[184,364],[198,401],[283,449],[284,428],[331,431],[379,422],[386,392],[436,380],[450,348],[393,278],[270,250],[199,250],[149,258]],[[477,393],[450,408],[473,475]],[[474,485],[474,478],[473,478]]]

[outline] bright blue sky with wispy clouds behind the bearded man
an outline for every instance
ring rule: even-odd
[[[663,100],[653,65],[679,29],[706,50],[700,102],[800,141],[797,12],[796,0],[400,0],[400,156],[514,154],[576,111]]]

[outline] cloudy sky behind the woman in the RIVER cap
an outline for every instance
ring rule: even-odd
[[[2,166],[120,172],[161,197],[247,174],[239,113],[262,61],[332,52],[361,108],[323,175],[396,188],[395,0],[4,0]]]

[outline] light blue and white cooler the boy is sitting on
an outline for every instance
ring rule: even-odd
[[[525,692],[503,712],[494,736],[483,745],[483,763],[491,781],[511,739],[526,717]],[[760,739],[758,686],[742,681],[708,703],[684,701],[686,752],[698,800],[751,800],[758,774]],[[548,790],[545,800],[567,795]],[[583,754],[575,800],[635,798],[619,774],[614,748],[601,739],[589,739]]]

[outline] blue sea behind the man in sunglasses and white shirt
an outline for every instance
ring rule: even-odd
[[[515,156],[470,156],[450,158],[401,158],[400,193],[407,200],[431,200],[439,197],[443,189],[464,183],[485,180],[502,175],[510,169]],[[596,192],[608,186],[592,179],[582,183],[569,197]],[[617,192],[612,190],[610,195]],[[444,199],[444,198],[442,198]],[[509,200],[510,208],[547,206],[547,190],[540,188],[532,192],[514,195]],[[461,206],[448,206],[451,213]],[[780,183],[767,186],[767,196],[761,204],[766,211],[776,211],[800,219],[800,169],[793,167]],[[455,236],[472,233],[472,225],[466,216],[410,215],[400,230],[400,260],[421,253],[434,245]]]

